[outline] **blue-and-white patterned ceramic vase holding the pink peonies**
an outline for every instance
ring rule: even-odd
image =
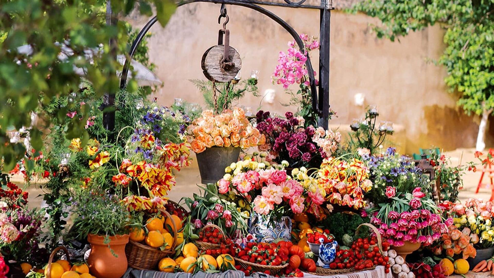
[[[277,239],[291,241],[291,219],[288,216],[270,222],[269,216],[263,218],[253,213],[248,220],[248,231],[257,242],[274,242]]]

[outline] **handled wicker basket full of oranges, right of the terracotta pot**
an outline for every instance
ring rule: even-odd
[[[155,269],[158,262],[175,253],[175,247],[183,241],[183,235],[178,232],[182,221],[166,210],[161,210],[160,217],[148,219],[145,227],[148,234],[142,228],[133,228],[125,246],[128,266],[134,269]]]

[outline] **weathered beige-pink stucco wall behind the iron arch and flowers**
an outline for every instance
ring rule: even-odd
[[[244,7],[227,6],[230,45],[242,59],[242,77],[252,69],[259,70],[259,90],[276,91],[273,104],[247,95],[242,104],[253,109],[285,112],[288,95],[279,85],[271,84],[271,74],[278,52],[287,49],[288,33],[268,17]],[[269,7],[299,33],[318,36],[319,11]],[[165,28],[156,24],[149,41],[150,58],[156,73],[164,82],[155,96],[169,105],[173,98],[203,103],[189,79],[204,78],[201,57],[216,44],[219,5],[195,3],[179,7]],[[131,17],[136,28],[147,19]],[[404,151],[436,145],[444,149],[474,146],[476,119],[455,107],[454,95],[447,93],[445,70],[428,61],[442,52],[443,31],[435,26],[402,38],[400,42],[376,39],[369,23],[378,21],[363,14],[350,15],[335,10],[331,13],[330,103],[338,117],[330,123],[347,126],[360,118],[364,107],[357,106],[354,96],[362,93],[365,105],[376,104],[380,119],[393,121],[405,131],[400,140]],[[317,70],[318,54],[312,56]]]

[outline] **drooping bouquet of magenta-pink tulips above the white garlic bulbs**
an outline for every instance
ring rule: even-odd
[[[442,209],[433,200],[425,198],[420,187],[406,193],[404,198],[390,199],[391,202],[382,204],[379,211],[372,214],[371,224],[391,245],[403,246],[405,241],[410,241],[428,246],[453,225],[453,219],[444,220]]]

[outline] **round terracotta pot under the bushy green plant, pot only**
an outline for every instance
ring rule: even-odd
[[[124,275],[127,270],[125,244],[128,242],[128,236],[128,234],[110,236],[109,244],[104,242],[105,236],[95,234],[87,236],[87,241],[91,243],[91,253],[87,258],[91,275],[97,278],[121,278]]]

